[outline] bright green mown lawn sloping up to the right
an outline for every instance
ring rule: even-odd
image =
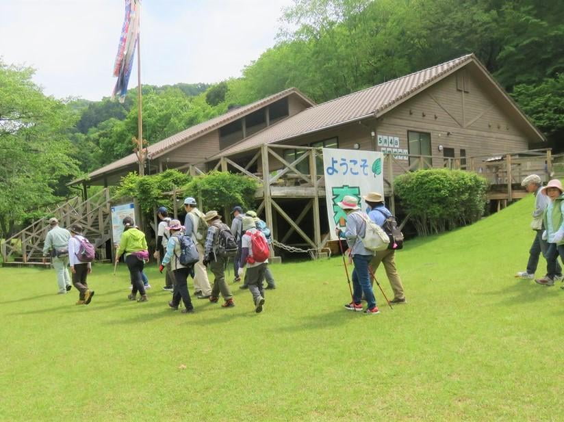
[[[562,421],[564,291],[513,277],[531,207],[408,242],[409,304],[376,292],[376,316],[342,307],[340,257],[274,265],[261,314],[238,287],[235,308],[170,311],[155,267],[138,304],[125,267],[95,266],[89,306],[0,269],[0,421]]]

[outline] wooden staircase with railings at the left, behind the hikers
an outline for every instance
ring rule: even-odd
[[[3,265],[43,264],[43,243],[49,231],[49,218],[57,217],[60,226],[68,228],[80,224],[84,236],[97,249],[99,259],[105,257],[105,243],[112,238],[112,217],[110,214],[110,191],[105,188],[82,202],[75,196],[57,207],[46,217],[37,220],[2,242]],[[49,261],[49,260],[48,260]]]

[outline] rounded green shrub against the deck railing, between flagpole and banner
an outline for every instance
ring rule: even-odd
[[[254,207],[257,187],[257,181],[248,176],[214,171],[194,177],[185,185],[184,193],[198,201],[201,198],[206,211],[222,211],[235,205]]]

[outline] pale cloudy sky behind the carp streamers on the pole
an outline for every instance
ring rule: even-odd
[[[275,44],[292,0],[143,0],[141,83],[214,83],[239,77]],[[36,68],[56,98],[100,100],[115,84],[123,0],[0,0],[0,57]],[[129,88],[137,85],[137,70]]]

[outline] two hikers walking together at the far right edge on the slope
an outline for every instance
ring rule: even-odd
[[[535,237],[529,250],[526,270],[517,272],[515,277],[534,279],[543,286],[554,286],[554,282],[563,280],[558,257],[564,259],[564,189],[558,179],[552,179],[543,186],[537,174],[530,174],[521,184],[527,192],[535,195],[533,220],[530,222]],[[535,278],[540,254],[546,259],[546,275]]]

